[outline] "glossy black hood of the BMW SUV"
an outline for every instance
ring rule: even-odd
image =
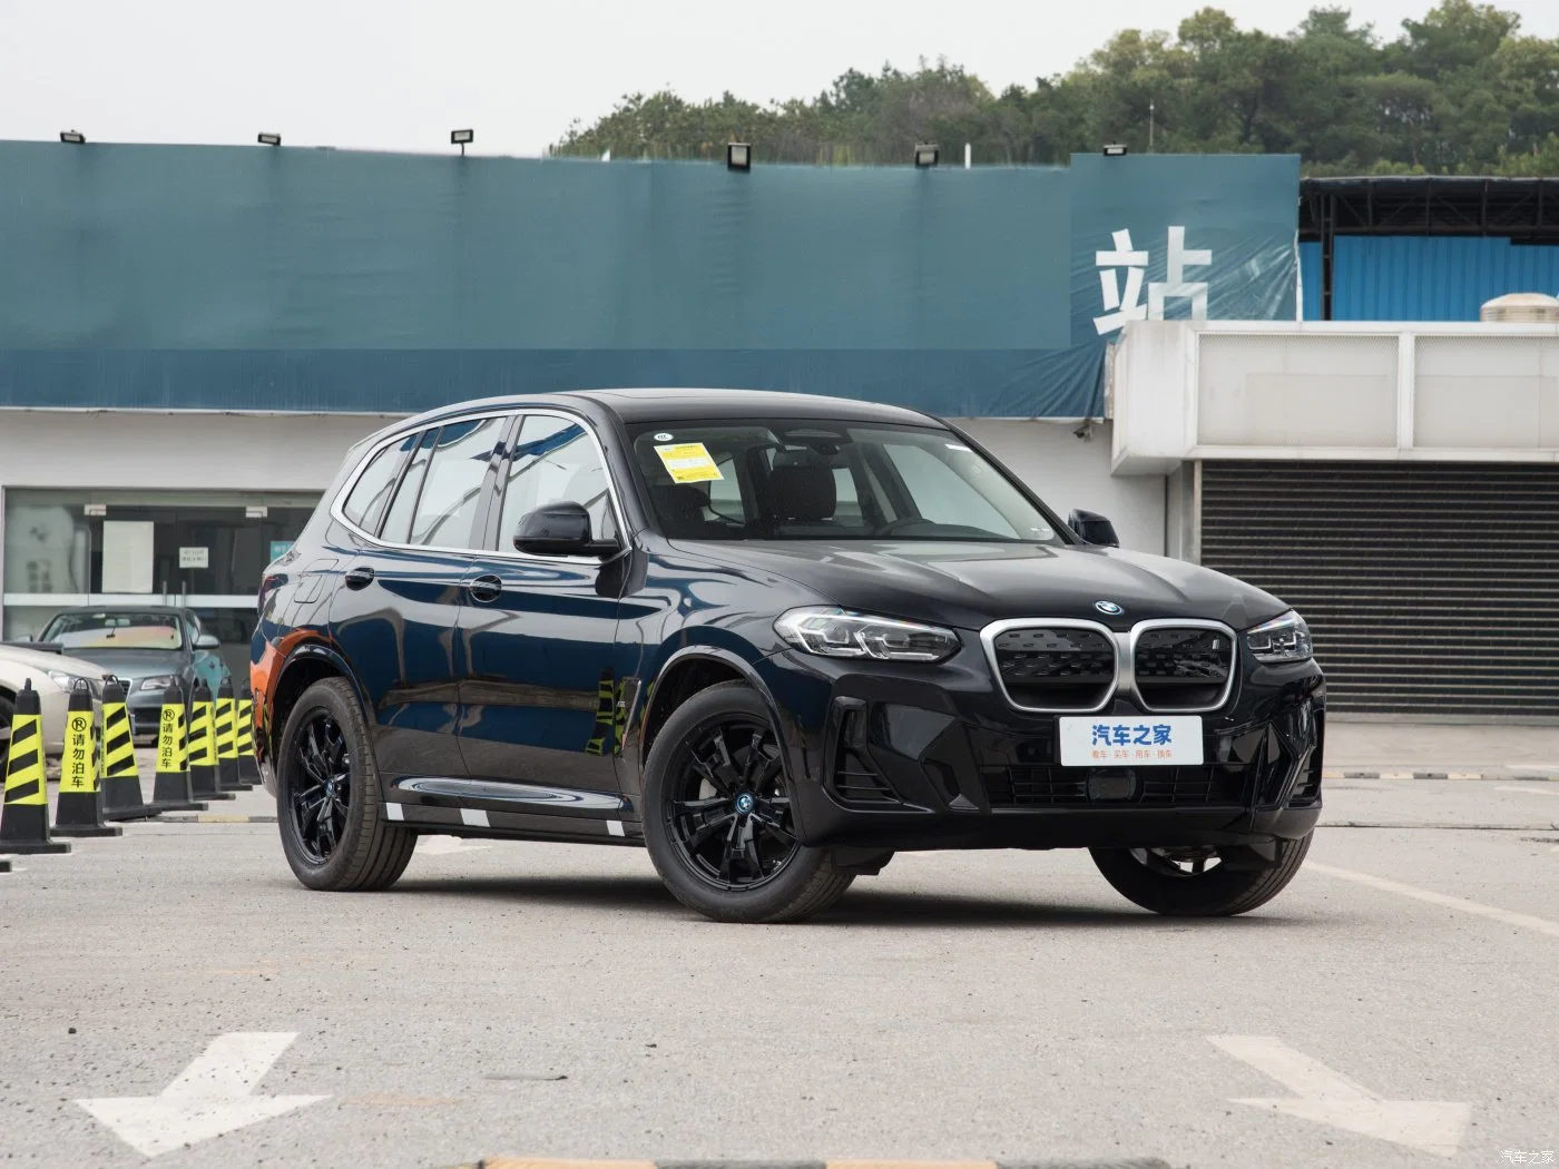
[[[1080,617],[1115,628],[1204,617],[1236,630],[1288,606],[1269,592],[1166,556],[1096,546],[963,542],[684,542],[677,549],[739,570],[786,577],[823,602],[862,613],[977,630],[1006,617]],[[1121,606],[1107,616],[1096,602]]]

